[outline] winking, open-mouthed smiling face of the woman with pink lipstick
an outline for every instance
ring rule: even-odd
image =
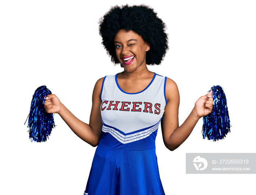
[[[127,72],[146,67],[146,51],[150,46],[134,31],[121,29],[114,37],[116,56]]]

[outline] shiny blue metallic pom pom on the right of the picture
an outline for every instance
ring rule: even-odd
[[[229,112],[227,110],[227,99],[221,86],[211,88],[213,96],[212,112],[203,117],[203,138],[216,141],[224,139],[230,132]],[[210,92],[210,91],[209,91]]]

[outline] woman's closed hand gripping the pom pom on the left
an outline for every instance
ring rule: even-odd
[[[45,98],[44,108],[45,112],[59,114],[61,109],[60,99],[55,94],[49,94]]]

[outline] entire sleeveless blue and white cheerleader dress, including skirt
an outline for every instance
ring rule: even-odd
[[[138,93],[123,91],[117,74],[101,91],[102,133],[84,195],[164,195],[155,138],[166,105],[166,77],[154,74]]]

